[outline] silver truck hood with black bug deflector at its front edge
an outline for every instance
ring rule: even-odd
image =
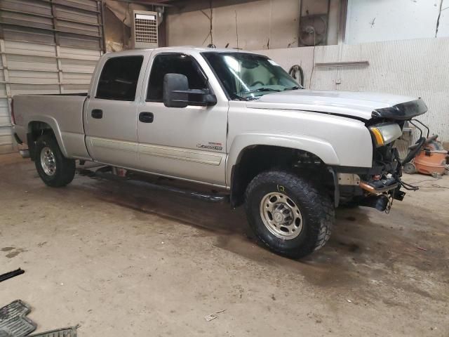
[[[427,106],[420,98],[307,89],[267,93],[258,100],[248,101],[247,107],[323,112],[363,120],[375,117],[404,120],[427,112]]]

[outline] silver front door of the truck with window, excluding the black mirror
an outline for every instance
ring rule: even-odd
[[[165,74],[184,74],[189,88],[198,89],[208,87],[208,75],[198,60],[184,53],[156,53],[151,63],[144,81],[146,100],[138,108],[141,169],[224,186],[229,103],[218,100],[210,107],[166,107],[162,96]],[[210,69],[208,73],[213,77]]]

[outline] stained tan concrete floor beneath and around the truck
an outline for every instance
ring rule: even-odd
[[[295,261],[257,246],[241,209],[81,176],[52,189],[15,154],[0,176],[0,272],[26,270],[0,304],[25,300],[39,331],[449,335],[449,177],[407,176],[428,181],[389,215],[338,210],[328,245]]]

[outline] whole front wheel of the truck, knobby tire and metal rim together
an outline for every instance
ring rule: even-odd
[[[293,173],[260,173],[246,190],[246,215],[257,239],[291,258],[307,256],[326,244],[334,213],[325,192]]]

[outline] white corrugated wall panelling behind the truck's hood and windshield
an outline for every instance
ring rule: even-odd
[[[372,91],[422,97],[429,112],[420,119],[449,141],[449,39],[415,39],[370,44],[259,51],[288,70],[299,64],[306,87]],[[313,67],[314,62],[368,61],[364,67]],[[311,78],[313,69],[313,77]],[[311,79],[311,83],[310,83]]]

